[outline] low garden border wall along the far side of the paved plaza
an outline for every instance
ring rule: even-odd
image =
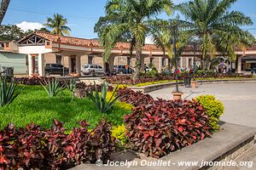
[[[229,79],[217,79],[217,80],[198,80],[198,84],[207,84],[207,83],[231,83],[231,82],[236,82],[236,83],[243,83],[243,82],[256,82],[256,78],[251,78],[251,79],[234,79],[234,80],[229,80]],[[148,94],[149,92],[153,92],[156,90],[160,90],[162,88],[170,88],[175,86],[176,82],[165,82],[165,83],[159,83],[159,84],[152,84],[148,86],[143,86],[143,87],[128,87],[131,88],[134,91],[141,91],[143,94]],[[179,85],[183,85],[184,82],[178,82]]]

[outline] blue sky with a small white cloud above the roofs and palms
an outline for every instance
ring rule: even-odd
[[[174,3],[187,0],[174,0]],[[72,29],[73,37],[97,37],[93,31],[98,18],[104,15],[104,6],[107,0],[11,0],[9,10],[3,24],[19,24],[22,29],[37,28],[44,24],[46,17],[52,14],[63,14]],[[256,36],[256,1],[238,0],[232,9],[240,10],[250,16],[255,23],[244,29],[254,28]],[[160,15],[166,19],[166,15]],[[21,23],[21,24],[20,24]]]

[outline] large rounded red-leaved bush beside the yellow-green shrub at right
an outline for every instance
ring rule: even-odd
[[[155,100],[124,120],[131,149],[155,158],[210,136],[209,118],[195,100]]]

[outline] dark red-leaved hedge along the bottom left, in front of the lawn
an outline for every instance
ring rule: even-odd
[[[90,133],[88,123],[65,133],[61,122],[43,129],[34,123],[16,129],[10,123],[0,131],[0,169],[67,169],[82,162],[106,161],[114,150],[111,126],[102,120]]]

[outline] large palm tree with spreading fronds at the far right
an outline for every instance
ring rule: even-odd
[[[253,25],[253,21],[239,11],[229,11],[237,0],[193,0],[178,5],[179,11],[190,23],[190,29],[201,44],[202,64],[217,51],[235,56],[238,44],[251,43],[254,37],[241,26]]]

